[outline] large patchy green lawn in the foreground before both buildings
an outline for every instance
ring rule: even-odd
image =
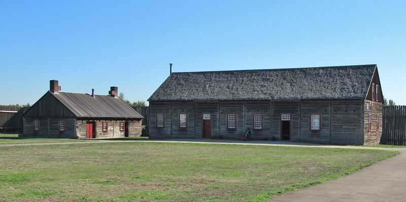
[[[0,147],[0,201],[260,201],[395,154],[148,142]]]

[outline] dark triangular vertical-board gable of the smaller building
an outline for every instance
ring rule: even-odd
[[[75,115],[62,105],[52,93],[47,92],[25,112],[24,117],[67,118],[75,117]]]

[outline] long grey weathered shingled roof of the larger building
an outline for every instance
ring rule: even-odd
[[[364,99],[376,64],[172,73],[148,101]]]

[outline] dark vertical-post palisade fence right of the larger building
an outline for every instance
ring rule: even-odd
[[[406,145],[406,106],[385,106],[381,144]]]

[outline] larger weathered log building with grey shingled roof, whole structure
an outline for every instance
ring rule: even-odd
[[[148,99],[150,138],[379,144],[376,64],[171,73]]]

